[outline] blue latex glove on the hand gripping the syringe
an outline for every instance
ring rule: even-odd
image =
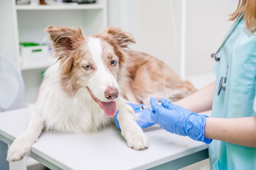
[[[188,136],[191,139],[211,143],[212,139],[204,137],[204,125],[207,115],[193,113],[179,105],[173,105],[162,98],[162,105],[157,105],[154,97],[150,98],[151,118],[168,132]]]

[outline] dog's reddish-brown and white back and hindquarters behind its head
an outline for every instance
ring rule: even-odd
[[[125,96],[130,102],[146,104],[151,96],[175,102],[196,92],[190,82],[182,81],[168,65],[155,57],[132,50],[127,53],[130,57],[127,65],[130,81]]]

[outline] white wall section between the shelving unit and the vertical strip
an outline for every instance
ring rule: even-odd
[[[131,49],[162,61],[169,57],[167,64],[180,73],[180,0],[109,0],[108,5],[109,26],[120,26],[135,37],[137,43]],[[171,51],[175,37],[176,45]]]

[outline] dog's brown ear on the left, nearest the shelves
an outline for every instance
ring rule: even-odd
[[[83,41],[84,37],[80,28],[70,29],[67,27],[49,26],[45,32],[50,35],[56,57],[62,64],[62,75],[71,72],[73,58],[71,56],[72,49],[78,46],[78,41]]]

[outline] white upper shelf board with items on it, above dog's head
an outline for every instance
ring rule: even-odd
[[[16,10],[97,10],[101,4],[63,4],[63,5],[16,5]]]

